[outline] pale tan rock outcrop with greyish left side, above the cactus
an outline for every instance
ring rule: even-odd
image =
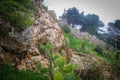
[[[1,37],[0,45],[20,53],[29,49],[32,50],[40,43],[47,41],[53,43],[55,47],[62,46],[64,36],[58,24],[45,10],[42,10],[38,15],[37,18],[33,18],[35,22],[33,26],[20,33],[9,33],[7,36]]]

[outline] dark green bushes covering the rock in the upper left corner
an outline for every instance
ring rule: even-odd
[[[30,0],[0,1],[0,16],[4,21],[10,23],[10,25],[14,28],[14,32],[22,31],[33,25],[33,21],[30,16],[34,12],[35,9]]]

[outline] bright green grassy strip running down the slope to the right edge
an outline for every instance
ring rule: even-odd
[[[70,41],[70,48],[76,52],[80,52],[82,54],[94,54],[96,57],[103,59],[107,62],[110,63],[111,67],[113,70],[117,73],[117,75],[120,75],[120,50],[110,50],[110,46],[95,46],[92,43],[90,43],[88,40],[83,39],[79,40],[75,37],[72,36],[71,33],[65,34],[65,36],[69,39]],[[95,64],[96,65],[96,64]],[[98,66],[98,65],[96,65]],[[100,67],[95,67],[92,68],[93,73],[95,72],[96,76],[98,70]],[[92,73],[92,72],[91,72]],[[89,73],[89,74],[91,74]],[[100,72],[101,73],[101,72]],[[99,72],[98,72],[99,75]],[[93,76],[92,76],[93,77]],[[99,75],[100,78],[103,78],[103,76]],[[95,78],[95,76],[93,77]],[[103,79],[104,80],[104,79]]]

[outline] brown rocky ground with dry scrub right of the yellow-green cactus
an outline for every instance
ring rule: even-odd
[[[81,75],[83,80],[101,80],[103,76],[105,80],[119,80],[116,72],[106,60],[95,55],[76,54],[76,52],[73,54],[71,63],[79,66],[76,72]]]

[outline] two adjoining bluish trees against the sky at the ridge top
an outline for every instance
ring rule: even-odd
[[[98,35],[97,29],[103,27],[104,23],[99,19],[96,14],[84,15],[84,12],[79,12],[76,7],[69,8],[62,15],[63,19],[67,19],[68,24],[74,27],[75,25],[81,25],[81,31],[88,32],[92,35]]]

